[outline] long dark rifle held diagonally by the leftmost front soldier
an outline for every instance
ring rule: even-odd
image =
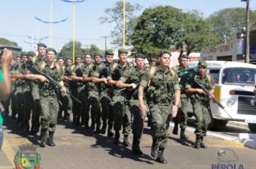
[[[27,61],[26,64],[28,65],[28,69],[35,73],[35,74],[40,74],[44,77],[46,77],[52,84],[55,84],[58,88],[63,88],[62,85],[60,85],[58,82],[55,81],[55,79],[52,79],[52,77],[50,77],[48,74],[45,74],[44,72],[41,72],[39,69],[37,69],[37,67],[35,67],[35,65],[33,64],[33,62],[31,61]],[[76,100],[77,102],[81,103],[80,100],[78,100],[76,97],[74,97],[73,95],[70,94],[70,92],[67,90],[67,94],[70,95],[70,97],[72,97],[74,100]]]

